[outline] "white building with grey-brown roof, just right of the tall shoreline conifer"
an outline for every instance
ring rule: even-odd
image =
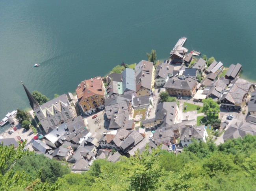
[[[155,83],[157,87],[165,85],[167,80],[173,76],[174,66],[162,63],[156,67]]]

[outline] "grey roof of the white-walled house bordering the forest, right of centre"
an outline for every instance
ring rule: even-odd
[[[180,140],[187,140],[193,138],[203,138],[204,126],[190,126],[183,127],[180,133]]]

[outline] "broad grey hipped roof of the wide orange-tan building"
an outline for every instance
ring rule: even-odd
[[[197,84],[197,80],[191,77],[180,78],[179,76],[171,76],[163,87],[174,89],[188,89],[191,90]]]

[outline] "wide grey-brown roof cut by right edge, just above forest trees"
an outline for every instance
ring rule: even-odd
[[[224,132],[223,140],[232,138],[243,138],[245,135],[256,135],[256,125],[247,122],[236,122]]]

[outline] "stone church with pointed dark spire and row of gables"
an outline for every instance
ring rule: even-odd
[[[49,130],[60,126],[64,122],[70,122],[75,117],[75,113],[70,105],[67,95],[63,94],[40,106],[26,86],[23,83],[22,85],[28,96],[28,100],[30,101],[30,106],[46,133],[48,133]]]

